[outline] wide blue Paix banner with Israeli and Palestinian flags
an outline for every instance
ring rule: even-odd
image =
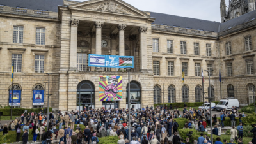
[[[134,68],[132,56],[89,54],[89,66],[108,68]]]

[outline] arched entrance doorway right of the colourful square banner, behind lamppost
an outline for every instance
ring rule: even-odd
[[[134,110],[139,110],[141,108],[141,89],[140,84],[136,81],[130,82],[130,99],[131,101],[131,108]],[[126,87],[126,94],[128,94],[128,85]],[[126,108],[128,108],[128,96],[126,96]]]

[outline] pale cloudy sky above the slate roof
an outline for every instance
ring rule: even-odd
[[[86,1],[86,0],[76,0]],[[220,0],[123,0],[143,11],[220,22]],[[228,0],[226,0],[228,6]]]

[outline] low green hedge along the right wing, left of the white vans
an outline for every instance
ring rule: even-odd
[[[219,101],[214,101],[212,103],[216,103],[216,105],[219,103]],[[202,106],[203,102],[198,102],[198,103],[186,103],[187,107],[195,107],[195,106]],[[154,104],[154,108],[156,108],[156,106],[163,106],[163,103],[161,104]],[[184,107],[184,103],[165,103],[165,106],[167,106],[167,108],[170,108],[170,105],[172,105],[172,108],[174,108],[174,106],[176,106],[177,108],[183,108]]]

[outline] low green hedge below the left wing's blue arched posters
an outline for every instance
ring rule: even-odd
[[[36,112],[39,113],[42,108],[13,108],[12,115],[21,115],[27,110],[27,112]],[[11,115],[11,108],[0,108],[0,112],[3,112],[3,116]],[[52,112],[52,108],[49,108],[49,112]]]

